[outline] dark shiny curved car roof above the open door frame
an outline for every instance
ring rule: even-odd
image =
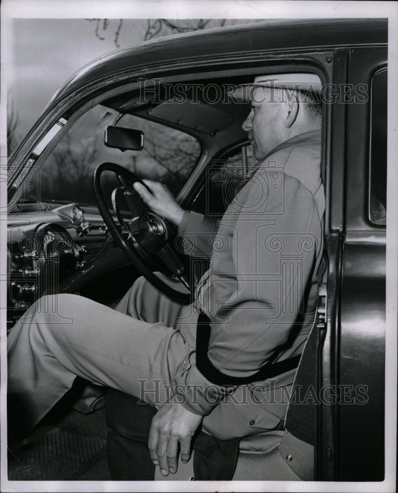
[[[382,45],[388,41],[387,19],[269,20],[208,29],[145,41],[132,48],[103,55],[78,70],[56,93],[54,100],[90,82],[136,68],[178,66],[205,60],[253,57],[270,51]],[[215,47],[217,47],[215,49]]]

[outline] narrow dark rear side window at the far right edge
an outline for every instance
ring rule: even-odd
[[[387,209],[387,69],[371,83],[369,219],[386,224]]]

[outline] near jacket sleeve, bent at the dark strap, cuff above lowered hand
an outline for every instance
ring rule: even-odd
[[[283,196],[270,197],[266,213],[245,217],[240,211],[232,227],[230,262],[217,255],[212,259],[205,293],[211,320],[208,357],[225,375],[249,377],[265,363],[283,354],[284,359],[297,319],[304,316],[307,288],[316,284],[322,224],[314,198],[293,178],[285,185]],[[234,388],[209,382],[194,354],[181,362],[175,382],[182,405],[200,415]]]

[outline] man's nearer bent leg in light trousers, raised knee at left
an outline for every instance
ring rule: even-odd
[[[9,419],[15,440],[27,435],[76,375],[150,404],[165,400],[170,374],[188,352],[178,331],[69,294],[56,296],[55,312],[44,310],[53,298],[32,305],[8,336]]]

